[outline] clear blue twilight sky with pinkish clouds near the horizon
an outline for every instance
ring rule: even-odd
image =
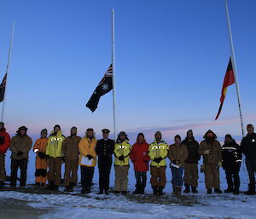
[[[85,107],[111,63],[111,10],[115,9],[116,126],[131,143],[137,133],[148,142],[161,130],[163,139],[201,140],[209,129],[220,140],[241,139],[236,86],[229,87],[215,121],[230,44],[224,0],[9,0],[0,3],[0,77],[16,21],[6,90],[4,122],[11,135],[26,125],[38,137],[61,124],[64,135],[79,128],[96,136],[113,134],[112,92],[96,112]],[[256,2],[230,0],[244,123],[256,122]],[[0,106],[2,107],[2,106]]]

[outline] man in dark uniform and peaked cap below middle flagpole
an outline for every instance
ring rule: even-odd
[[[112,166],[112,154],[114,149],[114,141],[108,139],[110,130],[102,130],[103,138],[97,141],[96,154],[98,155],[98,166],[99,166],[99,184],[100,192],[98,194],[108,194],[109,189],[109,175]]]

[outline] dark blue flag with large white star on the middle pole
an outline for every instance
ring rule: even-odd
[[[109,66],[108,71],[105,73],[101,82],[98,84],[93,94],[90,96],[90,100],[87,102],[86,107],[94,112],[98,107],[98,103],[102,95],[107,94],[111,89],[113,89],[113,67],[112,64]]]

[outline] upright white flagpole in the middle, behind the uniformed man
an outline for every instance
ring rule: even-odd
[[[112,68],[113,68],[113,140],[116,140],[115,125],[115,40],[114,40],[114,9],[112,9]]]

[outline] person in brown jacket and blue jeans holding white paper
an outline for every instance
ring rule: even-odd
[[[188,158],[188,149],[180,143],[180,135],[176,135],[174,141],[175,143],[169,147],[168,158],[171,160],[173,194],[180,195],[183,187],[184,162]]]

